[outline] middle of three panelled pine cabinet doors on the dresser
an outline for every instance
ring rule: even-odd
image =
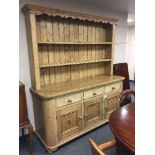
[[[98,122],[103,117],[103,97],[84,101],[85,126]]]

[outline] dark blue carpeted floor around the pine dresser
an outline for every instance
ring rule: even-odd
[[[134,83],[131,82],[131,89],[134,88]],[[51,153],[51,155],[93,155],[88,138],[92,138],[97,144],[103,143],[111,138],[113,134],[109,128],[109,125],[103,125],[84,136],[81,136],[63,146],[61,146],[57,151]],[[33,155],[49,155],[49,153],[44,149],[44,146],[40,143],[37,137],[33,138]],[[107,155],[114,155],[116,148],[108,150]],[[26,136],[20,138],[19,145],[20,155],[29,155],[28,153],[28,138]]]

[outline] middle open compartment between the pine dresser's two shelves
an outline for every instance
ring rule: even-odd
[[[112,45],[39,45],[39,67],[80,65],[112,61]]]

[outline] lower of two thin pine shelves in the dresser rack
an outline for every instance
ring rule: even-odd
[[[80,64],[88,64],[88,63],[97,63],[97,62],[110,62],[110,61],[111,61],[111,59],[103,59],[103,60],[93,60],[93,61],[85,61],[85,62],[69,62],[69,63],[62,63],[62,64],[47,64],[47,65],[40,65],[40,68],[67,66],[67,65],[80,65]]]

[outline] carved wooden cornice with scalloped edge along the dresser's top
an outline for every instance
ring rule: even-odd
[[[110,24],[115,24],[118,21],[118,19],[114,19],[114,18],[59,10],[59,9],[54,9],[50,7],[33,5],[33,4],[26,4],[22,8],[22,11],[24,14],[26,14],[27,12],[30,12],[36,15],[47,14],[49,16],[60,16],[62,18],[72,18],[72,19],[87,20],[87,21],[101,22],[101,23],[110,23]]]

